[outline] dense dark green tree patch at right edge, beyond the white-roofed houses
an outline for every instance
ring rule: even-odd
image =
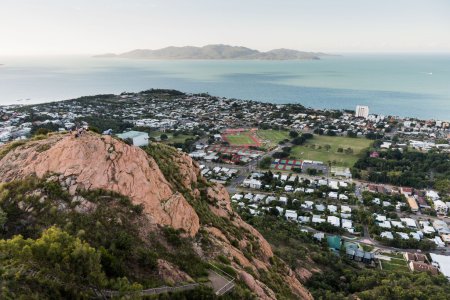
[[[437,184],[440,190],[448,189],[445,182],[450,178],[449,154],[399,150],[381,151],[379,154],[380,157],[374,158],[366,151],[355,164],[353,177],[415,188]]]

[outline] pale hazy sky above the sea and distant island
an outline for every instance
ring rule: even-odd
[[[0,0],[0,55],[216,43],[450,52],[450,0]]]

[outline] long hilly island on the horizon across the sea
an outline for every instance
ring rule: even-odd
[[[166,47],[157,50],[136,49],[121,54],[102,54],[99,58],[134,58],[134,59],[242,59],[242,60],[299,60],[320,59],[329,54],[304,52],[291,49],[274,49],[261,52],[240,46],[207,45],[203,47]]]

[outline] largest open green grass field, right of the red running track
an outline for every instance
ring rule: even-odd
[[[352,167],[358,160],[359,154],[371,144],[366,138],[348,138],[337,136],[314,135],[304,145],[292,148],[291,158],[302,160],[317,160],[341,167]],[[338,152],[342,148],[343,152]],[[353,153],[346,153],[351,148]]]

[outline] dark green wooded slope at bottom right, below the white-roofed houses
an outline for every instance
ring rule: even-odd
[[[291,268],[316,270],[305,284],[315,299],[448,299],[450,285],[443,275],[411,273],[406,262],[398,258],[387,263],[385,270],[365,268],[345,255],[333,254],[325,243],[314,241],[284,219],[245,217]]]

